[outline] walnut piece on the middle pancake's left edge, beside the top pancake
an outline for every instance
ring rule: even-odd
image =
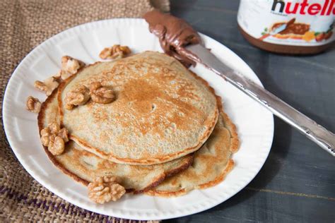
[[[46,146],[52,155],[61,155],[64,152],[65,143],[69,141],[69,132],[66,128],[60,128],[54,121],[41,130],[42,145]]]

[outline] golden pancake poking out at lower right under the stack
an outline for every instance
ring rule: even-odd
[[[220,111],[213,133],[201,149],[194,153],[192,166],[165,179],[146,194],[163,197],[184,195],[193,189],[208,188],[223,181],[234,167],[230,157],[237,151],[240,143],[235,125],[222,108]]]

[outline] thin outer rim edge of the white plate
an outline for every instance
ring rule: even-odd
[[[18,64],[18,66],[16,66],[16,68],[14,69],[13,73],[11,74],[11,77],[8,80],[8,83],[6,84],[6,88],[4,90],[4,98],[3,98],[3,107],[2,107],[2,116],[3,116],[3,124],[4,124],[4,132],[6,135],[6,138],[8,140],[8,144],[11,147],[11,150],[13,150],[14,154],[16,155],[16,158],[18,159],[18,161],[20,162],[20,164],[23,166],[23,168],[25,169],[25,171],[28,171],[28,174],[30,174],[30,176],[33,177],[33,179],[35,179],[38,183],[40,183],[42,186],[44,186],[45,188],[47,188],[48,191],[51,191],[52,193],[54,193],[55,195],[59,196],[60,198],[66,200],[67,202],[71,203],[72,205],[76,205],[78,207],[81,207],[85,210],[88,210],[90,212],[96,212],[98,214],[101,215],[107,215],[107,216],[112,216],[112,217],[119,217],[119,218],[125,218],[125,219],[139,219],[139,220],[155,220],[155,219],[171,219],[171,218],[175,218],[175,217],[182,217],[182,216],[187,216],[187,215],[193,215],[195,213],[198,212],[203,212],[205,210],[211,209],[212,207],[215,207],[216,205],[220,205],[221,203],[225,202],[226,200],[228,200],[229,198],[233,197],[233,195],[236,195],[237,193],[239,193],[240,191],[242,191],[243,188],[245,188],[245,186],[247,186],[247,184],[249,184],[255,176],[257,176],[257,174],[259,173],[259,171],[261,171],[261,168],[264,166],[264,163],[266,162],[267,157],[269,156],[269,152],[271,150],[271,145],[273,143],[274,140],[274,115],[271,114],[271,120],[269,125],[271,126],[271,133],[269,134],[269,149],[267,150],[264,160],[262,161],[259,169],[254,173],[254,176],[250,177],[250,179],[247,181],[247,183],[245,183],[245,186],[242,186],[242,188],[240,188],[239,190],[235,191],[234,193],[230,193],[228,195],[228,197],[225,198],[225,200],[221,200],[220,202],[215,202],[212,203],[212,205],[207,205],[206,207],[200,207],[198,209],[195,209],[193,211],[187,211],[187,213],[183,213],[183,212],[165,212],[163,214],[163,216],[155,216],[155,215],[150,215],[150,216],[143,216],[143,215],[136,215],[136,214],[132,214],[130,215],[129,213],[125,214],[122,213],[122,211],[117,210],[117,212],[113,212],[112,215],[108,214],[104,211],[102,211],[99,207],[99,205],[90,205],[90,207],[87,207],[86,205],[81,205],[81,203],[76,200],[74,200],[73,198],[68,198],[66,197],[65,193],[63,195],[63,193],[61,193],[61,191],[58,190],[58,188],[53,188],[52,185],[50,185],[49,183],[46,183],[45,181],[43,181],[42,177],[37,176],[37,173],[35,173],[35,171],[33,171],[33,169],[28,168],[28,164],[27,162],[23,159],[23,157],[21,157],[21,155],[18,154],[18,151],[15,149],[16,146],[14,146],[13,144],[13,140],[11,138],[11,132],[9,131],[9,127],[8,127],[8,114],[6,112],[6,108],[8,107],[8,86],[12,85],[12,82],[14,81],[13,77],[16,76],[16,73],[18,73],[18,70],[21,68],[21,66],[23,66],[23,64],[25,63],[26,60],[28,60],[28,58],[30,56],[32,56],[36,51],[42,49],[45,45],[49,44],[49,42],[52,42],[54,40],[57,40],[57,38],[61,37],[62,35],[66,35],[66,32],[75,32],[76,30],[78,31],[81,28],[84,27],[88,27],[93,28],[92,25],[104,25],[104,23],[120,23],[120,22],[125,22],[125,23],[132,23],[131,25],[137,25],[136,23],[145,23],[145,21],[142,18],[112,18],[112,19],[106,19],[106,20],[97,20],[97,21],[93,21],[90,23],[83,23],[81,25],[76,25],[72,28],[68,28],[66,30],[63,30],[59,33],[57,33],[56,35],[53,35],[52,37],[49,37],[47,40],[43,41],[42,43],[38,44],[36,47],[34,47]],[[208,38],[208,40],[215,42],[216,44],[219,44],[221,47],[224,47],[225,49],[227,49],[230,54],[235,54],[235,52],[233,52],[231,49],[229,49],[228,47],[226,47],[224,44],[222,44],[221,42],[218,42],[217,40],[214,40],[213,38],[209,37],[208,35],[204,35],[201,32],[199,32],[201,34],[201,37],[206,37]],[[54,40],[52,40],[54,39]],[[242,61],[244,64],[247,65],[247,63],[245,63],[245,61],[240,58],[240,56],[238,56],[237,54],[235,54],[238,59],[240,59],[240,61]],[[249,65],[247,65],[247,67],[249,68],[250,71],[252,71],[252,68],[249,67]],[[257,83],[259,85],[261,85],[261,87],[263,87],[261,81],[259,80],[258,76],[254,73],[254,71],[252,71],[254,78],[257,79]],[[80,200],[80,198],[78,199]]]

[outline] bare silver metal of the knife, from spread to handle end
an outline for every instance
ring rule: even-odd
[[[242,73],[223,64],[223,62],[211,54],[211,52],[201,44],[191,44],[184,47],[179,53],[196,63],[203,64],[206,68],[213,71],[218,76],[221,76],[228,81],[228,83],[231,83],[236,88],[242,90],[242,92],[245,92],[245,94],[252,97],[252,99],[259,102],[266,107],[266,109],[269,109],[269,111],[278,116],[278,118],[283,119],[283,121],[286,121],[286,123],[298,129],[300,133],[306,135],[307,138],[317,143],[317,145],[331,155],[335,156],[334,133],[331,133],[297,109],[294,109],[286,102],[283,102],[283,100],[279,99],[271,92],[257,85],[257,83],[254,83],[254,81],[246,78]]]

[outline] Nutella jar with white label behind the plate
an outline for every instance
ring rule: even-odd
[[[237,23],[256,47],[317,54],[334,43],[335,0],[240,0]]]

